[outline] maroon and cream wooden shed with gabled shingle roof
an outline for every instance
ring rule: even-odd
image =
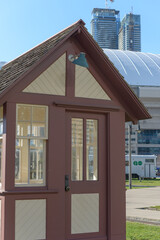
[[[124,240],[125,121],[150,115],[82,20],[3,66],[0,106],[1,240]]]

